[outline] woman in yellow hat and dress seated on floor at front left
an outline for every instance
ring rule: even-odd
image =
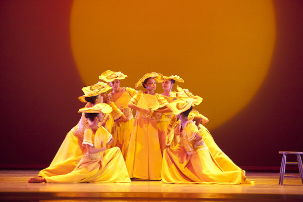
[[[130,182],[123,156],[118,147],[106,150],[106,144],[113,141],[112,135],[104,128],[98,127],[103,122],[104,114],[109,114],[112,108],[99,103],[90,108],[82,108],[89,127],[84,131],[83,155],[77,167],[70,173],[51,177],[32,177],[29,183],[81,183],[81,182]]]

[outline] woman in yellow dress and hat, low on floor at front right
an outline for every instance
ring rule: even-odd
[[[183,90],[183,89],[182,89]],[[184,93],[184,94],[183,94]],[[180,98],[170,103],[179,123],[168,135],[169,146],[174,136],[180,137],[176,146],[164,151],[162,181],[166,183],[240,184],[251,182],[240,169],[225,171],[212,155],[204,141],[203,131],[198,130],[188,119],[192,106],[201,103],[202,98],[193,96],[187,89],[177,92]],[[175,133],[175,134],[174,134]]]

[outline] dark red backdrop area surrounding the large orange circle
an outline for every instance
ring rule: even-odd
[[[303,150],[303,2],[273,2],[277,38],[268,76],[244,110],[211,131],[246,169],[278,169],[279,150]],[[80,118],[84,83],[71,52],[71,6],[0,2],[0,168],[48,165]]]

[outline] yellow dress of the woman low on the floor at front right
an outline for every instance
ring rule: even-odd
[[[181,125],[181,124],[180,124]],[[180,125],[178,129],[181,130]],[[162,182],[201,183],[201,184],[240,184],[248,181],[240,170],[224,171],[217,163],[202,135],[192,121],[187,121],[180,133],[187,136],[189,145],[194,148],[187,153],[179,145],[167,148],[163,155]]]

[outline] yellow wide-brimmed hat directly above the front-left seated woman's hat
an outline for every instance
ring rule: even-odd
[[[87,103],[85,100],[85,97],[96,96],[100,93],[107,92],[110,89],[112,89],[112,87],[109,84],[99,81],[96,84],[83,87],[82,91],[84,92],[84,95],[82,95],[78,98],[82,103]]]

